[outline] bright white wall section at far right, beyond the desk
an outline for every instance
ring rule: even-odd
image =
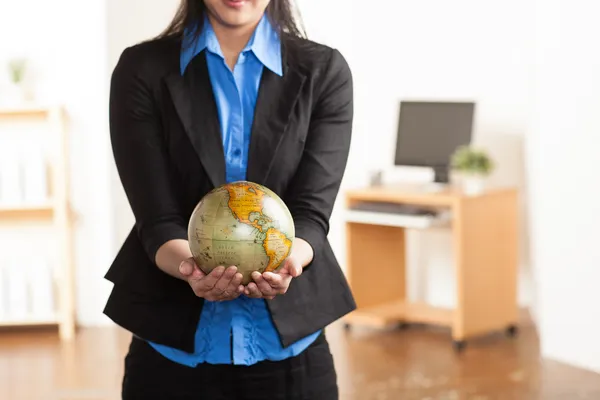
[[[600,372],[600,26],[595,2],[540,0],[528,136],[542,351]]]

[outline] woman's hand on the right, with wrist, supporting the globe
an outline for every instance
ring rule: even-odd
[[[279,294],[285,294],[293,278],[302,275],[302,270],[313,259],[313,248],[303,239],[296,238],[292,254],[276,272],[252,273],[254,282],[250,282],[244,294],[252,298],[272,300]]]

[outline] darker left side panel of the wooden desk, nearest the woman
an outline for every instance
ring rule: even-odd
[[[347,275],[358,310],[347,323],[402,322],[406,300],[403,228],[348,222]]]

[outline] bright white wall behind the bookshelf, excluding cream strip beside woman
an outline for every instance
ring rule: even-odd
[[[102,275],[112,255],[104,21],[104,0],[0,2],[0,62],[15,55],[29,57],[40,100],[61,102],[68,113],[72,201],[78,218],[76,295],[83,324],[102,320],[103,296],[109,289]],[[34,260],[31,244],[29,251],[21,255],[24,260]]]

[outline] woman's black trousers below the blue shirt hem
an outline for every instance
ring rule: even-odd
[[[122,390],[123,400],[338,400],[324,334],[286,360],[196,368],[172,362],[134,337],[125,357]]]

